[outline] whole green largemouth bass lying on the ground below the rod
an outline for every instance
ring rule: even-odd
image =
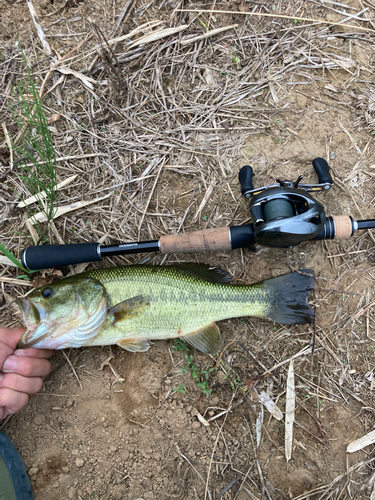
[[[315,278],[293,272],[253,285],[208,266],[126,266],[88,271],[20,299],[27,327],[19,347],[65,349],[117,344],[149,349],[149,340],[183,338],[203,352],[218,349],[216,321],[257,316],[304,324]]]

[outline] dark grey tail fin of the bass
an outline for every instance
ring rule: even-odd
[[[284,325],[311,323],[314,311],[307,302],[315,285],[314,271],[301,269],[263,282],[273,297],[267,318]]]

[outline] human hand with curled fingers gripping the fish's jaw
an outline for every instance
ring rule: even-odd
[[[23,408],[51,371],[49,349],[17,349],[24,328],[0,328],[0,420]]]

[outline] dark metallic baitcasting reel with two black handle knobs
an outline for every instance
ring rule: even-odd
[[[242,167],[239,173],[241,192],[250,198],[250,214],[254,219],[254,237],[261,245],[287,248],[317,236],[324,228],[326,215],[323,206],[308,191],[322,191],[331,187],[333,180],[328,163],[316,158],[313,166],[319,184],[301,184],[302,175],[295,182],[276,178],[276,184],[254,189],[253,169]]]

